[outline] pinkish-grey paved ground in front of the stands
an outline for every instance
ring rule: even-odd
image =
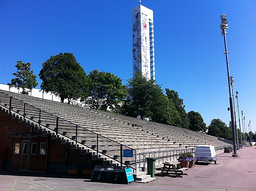
[[[256,147],[218,155],[217,165],[196,165],[183,177],[156,176],[129,185],[90,182],[84,177],[0,171],[0,191],[256,191]]]

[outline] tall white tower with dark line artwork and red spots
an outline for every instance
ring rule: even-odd
[[[153,11],[138,5],[132,10],[133,74],[155,79]]]

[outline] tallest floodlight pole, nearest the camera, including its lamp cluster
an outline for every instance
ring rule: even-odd
[[[233,108],[233,99],[231,97],[231,88],[230,88],[230,72],[229,72],[229,65],[228,65],[228,56],[227,54],[227,41],[226,41],[226,33],[228,29],[227,25],[227,18],[226,14],[221,14],[221,35],[224,36],[224,44],[225,44],[225,52],[224,54],[226,55],[226,62],[227,62],[227,80],[228,80],[228,87],[229,87],[229,95],[230,95],[230,115],[231,115],[231,127],[232,127],[232,135],[233,135],[233,150],[234,153],[232,156],[238,156],[237,150],[236,150],[236,130],[235,130],[235,121],[234,121],[234,108]]]

